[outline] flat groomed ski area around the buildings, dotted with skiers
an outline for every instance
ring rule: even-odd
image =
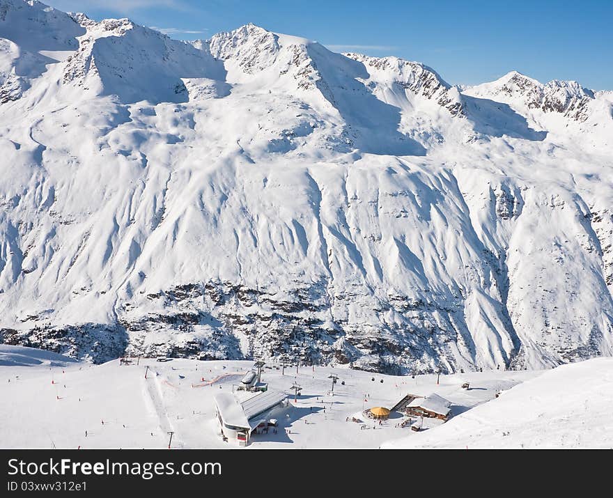
[[[175,432],[173,448],[238,447],[222,441],[213,397],[220,390],[231,391],[252,361],[140,359],[138,366],[120,366],[118,360],[93,365],[61,361],[54,355],[41,364],[31,361],[21,366],[28,363],[24,358],[34,360],[41,354],[49,355],[0,345],[0,396],[10,400],[0,410],[2,448],[165,448],[170,430]],[[270,387],[289,393],[298,382],[302,391],[296,401],[290,398],[290,407],[271,415],[279,420],[279,433],[254,435],[247,449],[378,448],[389,439],[413,437],[410,428],[396,427],[402,420],[399,414],[382,426],[366,419],[366,429],[347,418],[364,419],[365,408],[392,407],[405,394],[424,396],[433,391],[448,398],[452,412],[459,414],[494,398],[501,389],[541,375],[531,371],[442,375],[437,385],[436,375],[396,377],[324,366],[300,367],[297,374],[295,367],[288,367],[281,375],[280,367],[270,366],[263,371],[263,381]],[[339,375],[334,395],[331,373]],[[217,380],[203,385],[203,378]],[[472,389],[462,389],[463,382],[470,382]],[[433,433],[443,429],[439,425],[424,423],[433,427],[428,430]]]

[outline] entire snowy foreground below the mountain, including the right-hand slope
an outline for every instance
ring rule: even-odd
[[[0,396],[10,400],[0,410],[0,446],[165,448],[173,430],[176,448],[238,447],[222,441],[213,398],[231,392],[251,366],[189,359],[95,366],[0,345]],[[289,393],[298,382],[302,392],[271,415],[279,420],[278,433],[254,435],[249,449],[613,446],[611,358],[550,371],[441,375],[440,385],[436,375],[395,377],[320,366],[300,367],[297,375],[290,367],[281,375],[271,366],[263,371],[270,387]],[[339,375],[334,396],[330,373]],[[470,389],[462,389],[464,382]],[[405,394],[433,392],[451,401],[453,418],[424,419],[419,433],[397,427],[403,420],[398,413],[382,426],[362,417],[364,408],[392,407]],[[366,428],[347,421],[352,417],[364,419]]]

